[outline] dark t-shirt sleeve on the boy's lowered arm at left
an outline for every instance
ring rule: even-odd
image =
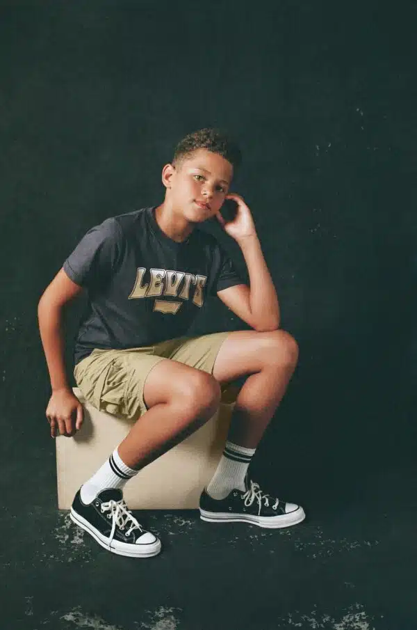
[[[120,231],[114,217],[90,228],[63,264],[67,276],[88,290],[104,285],[120,254]]]

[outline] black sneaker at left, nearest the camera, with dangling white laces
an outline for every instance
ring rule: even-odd
[[[161,540],[142,528],[124,503],[120,489],[103,490],[87,505],[81,501],[79,490],[72,503],[70,519],[104,549],[120,556],[149,558],[161,551]]]

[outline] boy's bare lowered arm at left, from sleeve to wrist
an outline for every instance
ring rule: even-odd
[[[40,337],[53,392],[67,390],[72,393],[64,361],[63,306],[82,290],[60,269],[38,303]]]

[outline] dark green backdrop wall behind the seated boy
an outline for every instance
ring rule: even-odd
[[[243,149],[250,206],[300,364],[254,460],[309,507],[412,462],[416,88],[411,4],[3,3],[4,492],[51,505],[37,304],[83,234],[160,203],[184,134]],[[220,235],[222,237],[222,235]],[[240,250],[224,242],[242,265]],[[67,313],[67,361],[83,301]],[[243,324],[213,300],[194,331]],[[28,478],[27,471],[31,475]],[[8,471],[8,472],[7,472]],[[343,488],[341,492],[340,489]]]

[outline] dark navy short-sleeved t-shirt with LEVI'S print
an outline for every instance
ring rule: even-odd
[[[88,230],[63,264],[88,292],[74,363],[95,348],[128,349],[186,334],[207,297],[243,284],[213,235],[195,229],[177,243],[156,223],[156,206]]]

